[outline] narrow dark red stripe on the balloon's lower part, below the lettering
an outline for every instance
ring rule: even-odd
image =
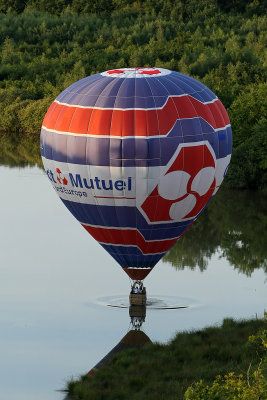
[[[164,253],[178,239],[146,241],[137,230],[133,229],[106,229],[83,224],[82,226],[98,242],[109,245],[137,246],[143,254]]]

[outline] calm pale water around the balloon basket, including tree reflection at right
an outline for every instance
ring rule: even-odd
[[[0,181],[0,400],[62,400],[129,330],[128,308],[109,306],[127,304],[129,279],[42,169],[2,165]],[[266,198],[221,189],[147,277],[147,336],[262,317],[266,232]]]

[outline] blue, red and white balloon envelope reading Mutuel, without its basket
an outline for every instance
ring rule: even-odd
[[[163,68],[119,68],[75,82],[51,104],[40,140],[60,199],[134,281],[200,215],[232,150],[216,95]]]

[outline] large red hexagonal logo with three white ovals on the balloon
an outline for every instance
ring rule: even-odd
[[[206,144],[184,145],[141,205],[150,222],[197,216],[216,186],[215,158]]]

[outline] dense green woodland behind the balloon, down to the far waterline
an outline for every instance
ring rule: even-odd
[[[0,130],[40,131],[50,102],[86,75],[161,66],[210,87],[230,115],[227,183],[267,186],[266,2],[6,0]]]

